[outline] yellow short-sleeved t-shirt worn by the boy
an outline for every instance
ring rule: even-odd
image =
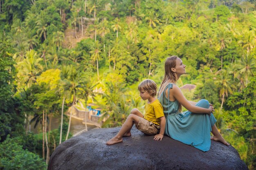
[[[153,124],[160,125],[159,117],[164,116],[164,110],[162,104],[156,99],[154,102],[145,104],[145,116],[144,119],[151,121]]]

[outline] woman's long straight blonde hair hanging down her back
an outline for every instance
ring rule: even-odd
[[[165,93],[164,89],[169,83],[176,84],[176,82],[177,82],[176,74],[175,74],[175,72],[173,72],[171,70],[171,68],[176,67],[177,58],[178,58],[177,56],[173,55],[171,57],[168,57],[165,60],[165,63],[164,63],[164,79],[163,79],[163,81],[161,83],[161,86],[159,88],[158,95],[157,95],[158,97],[159,97],[159,95],[161,95],[161,93]],[[179,112],[181,112],[181,110],[182,110],[182,105],[179,103]]]

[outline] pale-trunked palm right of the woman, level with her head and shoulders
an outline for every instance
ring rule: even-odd
[[[220,70],[218,72],[218,76],[216,77],[216,84],[220,86],[220,97],[222,97],[222,102],[220,106],[220,110],[222,109],[224,103],[225,95],[228,96],[228,93],[232,94],[232,82],[227,70]]]

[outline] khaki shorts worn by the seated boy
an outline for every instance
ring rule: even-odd
[[[139,118],[139,123],[135,127],[147,135],[157,135],[160,130],[159,125],[153,124],[151,121],[147,121],[142,117]]]

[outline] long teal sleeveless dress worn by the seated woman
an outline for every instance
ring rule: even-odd
[[[167,88],[168,97],[164,93]],[[174,102],[169,100],[170,88],[173,88],[173,84],[168,84],[158,97],[164,108],[164,116],[166,118],[164,134],[204,152],[210,150],[210,132],[211,126],[216,123],[215,117],[213,114],[209,116],[208,114],[191,113],[190,111],[178,112],[179,103],[177,99]],[[195,106],[209,108],[209,102],[202,99]]]

